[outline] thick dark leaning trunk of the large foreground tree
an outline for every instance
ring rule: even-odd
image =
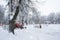
[[[19,4],[21,4],[21,0],[19,0]],[[19,14],[19,5],[16,7],[15,15],[13,16],[12,20],[9,21],[9,31],[14,34],[14,23]]]

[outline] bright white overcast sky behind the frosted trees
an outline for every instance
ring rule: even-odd
[[[43,2],[42,2],[43,1]],[[60,0],[38,0],[36,8],[41,11],[41,15],[48,15],[51,12],[60,12]],[[6,2],[0,0],[0,5],[5,5]]]

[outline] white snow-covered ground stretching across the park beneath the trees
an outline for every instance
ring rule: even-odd
[[[0,26],[0,40],[60,40],[60,24],[27,25],[27,29],[15,29],[15,35]]]

